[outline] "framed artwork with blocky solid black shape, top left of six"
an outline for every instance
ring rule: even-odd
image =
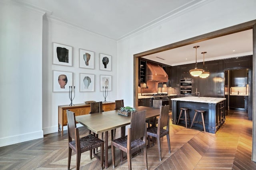
[[[53,43],[52,64],[72,66],[73,47],[68,45]]]

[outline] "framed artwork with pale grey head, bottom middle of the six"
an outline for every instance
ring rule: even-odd
[[[80,73],[80,92],[94,92],[94,74]]]

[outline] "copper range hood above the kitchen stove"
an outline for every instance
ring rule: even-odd
[[[168,75],[160,65],[147,63],[147,81],[168,82]]]

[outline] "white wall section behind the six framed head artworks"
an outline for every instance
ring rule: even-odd
[[[108,92],[107,101],[117,98],[117,42],[106,37],[83,31],[55,20],[43,21],[43,130],[44,134],[58,131],[58,106],[69,105],[68,92],[52,92],[52,70],[73,72],[76,81],[76,96],[73,104],[84,101],[104,101],[100,91],[100,75],[112,76],[112,91]],[[52,42],[73,47],[73,66],[52,64]],[[94,69],[79,68],[79,49],[94,51]],[[112,56],[112,70],[100,70],[99,53]],[[91,60],[90,60],[91,61]],[[94,74],[94,92],[79,92],[80,73]],[[66,127],[64,127],[66,129]]]

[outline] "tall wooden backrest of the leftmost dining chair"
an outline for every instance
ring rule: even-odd
[[[73,111],[67,110],[68,118],[68,136],[72,139],[76,139],[76,118]]]

